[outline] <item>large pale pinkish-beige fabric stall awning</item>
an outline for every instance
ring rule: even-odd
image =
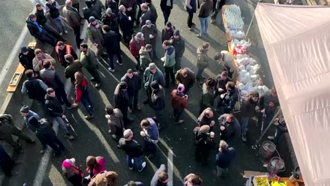
[[[255,11],[305,183],[330,186],[330,8],[259,3]]]

